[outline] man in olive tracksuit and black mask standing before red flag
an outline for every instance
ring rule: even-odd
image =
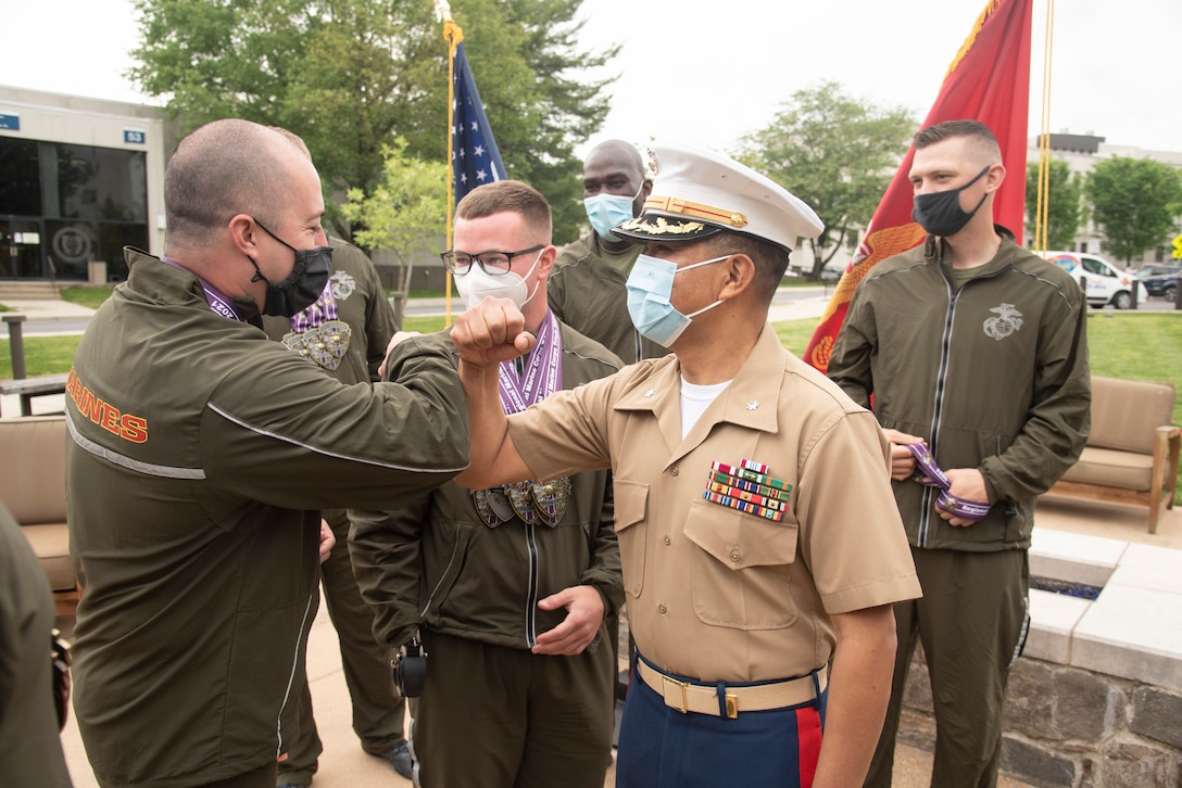
[[[1006,170],[988,128],[941,123],[915,149],[914,217],[927,241],[866,274],[829,362],[855,402],[873,398],[923,584],[922,599],[895,606],[891,704],[866,786],[890,784],[918,640],[936,710],[931,784],[976,788],[998,780],[1006,680],[1030,619],[1034,500],[1087,438],[1087,305],[1066,272],[994,224]],[[920,444],[946,495],[911,478]]]

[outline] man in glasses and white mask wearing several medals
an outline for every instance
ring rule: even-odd
[[[538,338],[500,370],[506,410],[621,366],[547,307],[550,239],[550,206],[525,183],[489,183],[456,206],[444,260],[460,293],[472,305],[507,292]],[[433,334],[401,343],[390,362],[405,369],[440,347],[455,354]],[[350,513],[375,633],[394,649],[418,634],[428,653],[410,729],[422,786],[602,788],[616,667],[604,618],[624,597],[610,486],[603,470],[487,490],[449,483],[395,512]]]

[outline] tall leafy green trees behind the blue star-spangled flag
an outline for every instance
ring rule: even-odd
[[[583,0],[455,0],[473,73],[511,177],[531,182],[573,237],[576,144],[603,124],[617,48],[578,50]],[[382,146],[447,161],[447,41],[433,0],[135,0],[129,76],[189,131],[221,117],[304,138],[327,194],[371,191]],[[340,230],[348,234],[345,228]]]

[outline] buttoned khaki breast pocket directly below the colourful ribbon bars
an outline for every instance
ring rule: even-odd
[[[709,501],[696,501],[686,520],[694,551],[689,585],[694,612],[706,624],[778,630],[797,619],[790,593],[798,527]]]

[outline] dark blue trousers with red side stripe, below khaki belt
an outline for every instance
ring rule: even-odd
[[[820,756],[827,693],[735,719],[682,714],[636,677],[619,727],[616,788],[807,788]]]

